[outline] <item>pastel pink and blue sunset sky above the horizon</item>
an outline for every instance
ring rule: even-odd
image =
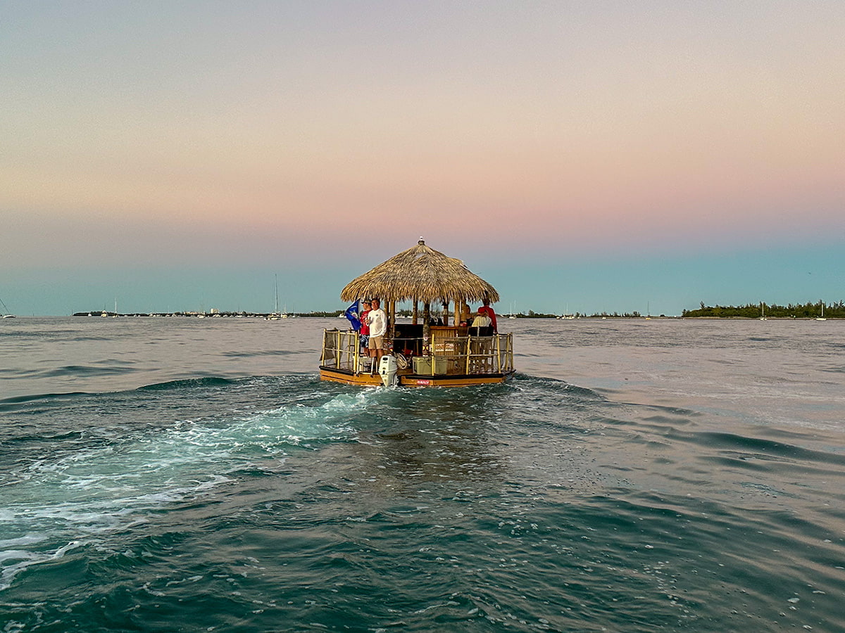
[[[0,299],[335,310],[417,243],[535,311],[845,299],[845,3],[11,0]]]

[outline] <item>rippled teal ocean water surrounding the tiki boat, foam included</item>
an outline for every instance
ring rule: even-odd
[[[845,323],[411,390],[320,382],[338,322],[0,321],[0,630],[845,630]]]

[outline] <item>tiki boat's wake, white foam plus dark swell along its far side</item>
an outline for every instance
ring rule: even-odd
[[[250,398],[237,398],[235,411],[205,412],[201,419],[171,419],[169,424],[158,411],[150,415],[151,423],[144,423],[144,408],[157,405],[172,411],[168,401],[173,394],[196,400],[210,389],[224,388],[230,397],[238,389],[254,396],[255,387],[268,382],[275,383],[285,404],[261,408],[244,405]],[[11,466],[0,471],[0,590],[31,565],[130,530],[149,521],[150,513],[202,504],[241,473],[278,475],[296,452],[352,441],[357,412],[378,395],[286,390],[286,382],[291,381],[202,379],[144,387],[133,392],[134,419],[125,417],[130,393],[8,403],[7,410],[20,413],[24,408],[26,413],[59,403],[67,408],[74,401],[79,408],[90,408],[95,399],[112,403],[124,418],[112,425],[52,436],[27,433],[5,442],[14,448],[3,450],[3,461]],[[150,399],[151,393],[158,398]]]

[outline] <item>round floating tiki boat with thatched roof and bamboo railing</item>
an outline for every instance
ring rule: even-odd
[[[325,329],[321,380],[373,387],[468,387],[513,376],[512,334],[459,325],[469,303],[494,303],[499,293],[464,262],[426,246],[422,238],[417,246],[353,279],[341,292],[344,301],[363,297],[378,297],[387,315],[384,356],[378,366],[368,366],[360,333]],[[412,321],[397,322],[396,304],[405,300],[413,303]],[[432,324],[432,305],[443,306],[443,325]]]

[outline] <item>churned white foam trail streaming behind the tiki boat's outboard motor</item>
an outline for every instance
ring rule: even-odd
[[[147,521],[150,511],[213,494],[238,469],[278,463],[297,446],[348,441],[352,415],[370,398],[341,394],[241,419],[183,421],[30,463],[3,482],[0,589],[30,565]]]

